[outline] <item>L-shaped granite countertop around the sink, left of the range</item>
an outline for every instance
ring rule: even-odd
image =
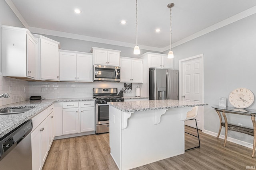
[[[26,100],[14,104],[8,104],[0,107],[0,111],[14,108],[33,108],[24,113],[0,115],[0,138],[27,121],[31,119],[54,102],[79,102],[90,101],[94,98],[70,98],[70,99],[46,99],[46,100]]]

